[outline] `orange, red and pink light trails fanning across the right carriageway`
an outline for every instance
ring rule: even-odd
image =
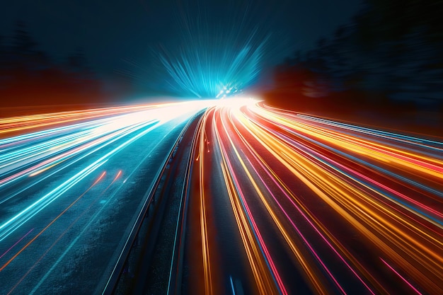
[[[401,272],[398,278],[411,291],[443,291],[442,142],[251,100],[221,100],[208,116],[212,129],[203,128],[211,130],[212,146],[218,144],[212,151],[219,154],[210,159],[222,159],[222,176],[260,294],[284,294],[291,288],[282,275],[287,267],[272,259],[275,241],[260,234],[272,229],[254,221],[263,214],[289,247],[287,258],[317,294],[396,292],[396,283],[382,275],[386,266]],[[198,161],[206,141],[200,139]],[[262,209],[248,202],[260,202]],[[327,220],[361,236],[364,250],[355,249],[355,242]],[[368,250],[394,266],[362,258]]]

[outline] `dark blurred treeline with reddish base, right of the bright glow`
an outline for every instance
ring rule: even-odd
[[[442,15],[443,1],[366,0],[350,25],[277,66],[267,98],[299,111],[441,117]]]

